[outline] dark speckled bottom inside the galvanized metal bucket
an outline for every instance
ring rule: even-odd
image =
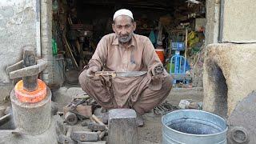
[[[170,125],[171,129],[178,130],[186,134],[217,134],[222,132],[222,128],[210,122],[199,121],[197,119],[178,119],[172,120]]]

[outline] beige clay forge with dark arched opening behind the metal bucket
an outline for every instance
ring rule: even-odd
[[[204,62],[204,106],[226,118],[242,98],[256,90],[256,44],[207,46]]]

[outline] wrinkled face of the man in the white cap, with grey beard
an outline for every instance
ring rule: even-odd
[[[118,37],[118,41],[122,43],[130,42],[130,38],[136,29],[136,23],[132,18],[126,15],[120,15],[114,19],[112,28]]]

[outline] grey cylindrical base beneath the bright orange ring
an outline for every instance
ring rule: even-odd
[[[14,123],[22,134],[42,134],[50,127],[51,92],[47,88],[46,98],[36,103],[20,102],[14,94],[10,93],[13,108]]]

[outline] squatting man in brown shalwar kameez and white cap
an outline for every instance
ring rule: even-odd
[[[134,34],[136,23],[130,10],[114,14],[114,34],[107,34],[79,75],[82,90],[105,109],[132,108],[144,114],[160,104],[170,93],[172,78],[166,70],[156,73],[162,62],[150,39]],[[96,77],[97,71],[147,71],[134,77]]]

